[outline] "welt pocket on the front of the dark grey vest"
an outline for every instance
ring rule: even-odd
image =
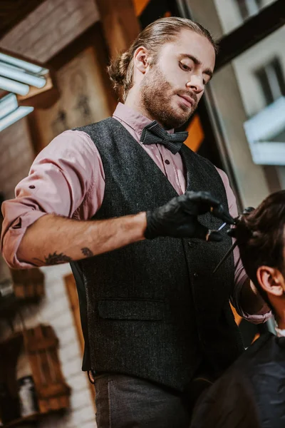
[[[98,300],[98,313],[108,320],[162,320],[165,302],[162,300]]]

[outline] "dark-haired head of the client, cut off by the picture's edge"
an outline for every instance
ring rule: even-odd
[[[285,310],[285,190],[269,195],[237,220],[237,238],[244,269],[277,319]]]

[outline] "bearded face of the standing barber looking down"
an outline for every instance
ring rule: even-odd
[[[141,83],[149,116],[166,129],[178,128],[194,113],[214,71],[212,44],[194,31],[182,30],[163,45]]]

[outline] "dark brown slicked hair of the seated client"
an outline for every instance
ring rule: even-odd
[[[256,210],[241,215],[234,231],[244,269],[270,307],[257,281],[257,269],[276,267],[284,274],[284,226],[285,190],[281,190],[269,195]]]

